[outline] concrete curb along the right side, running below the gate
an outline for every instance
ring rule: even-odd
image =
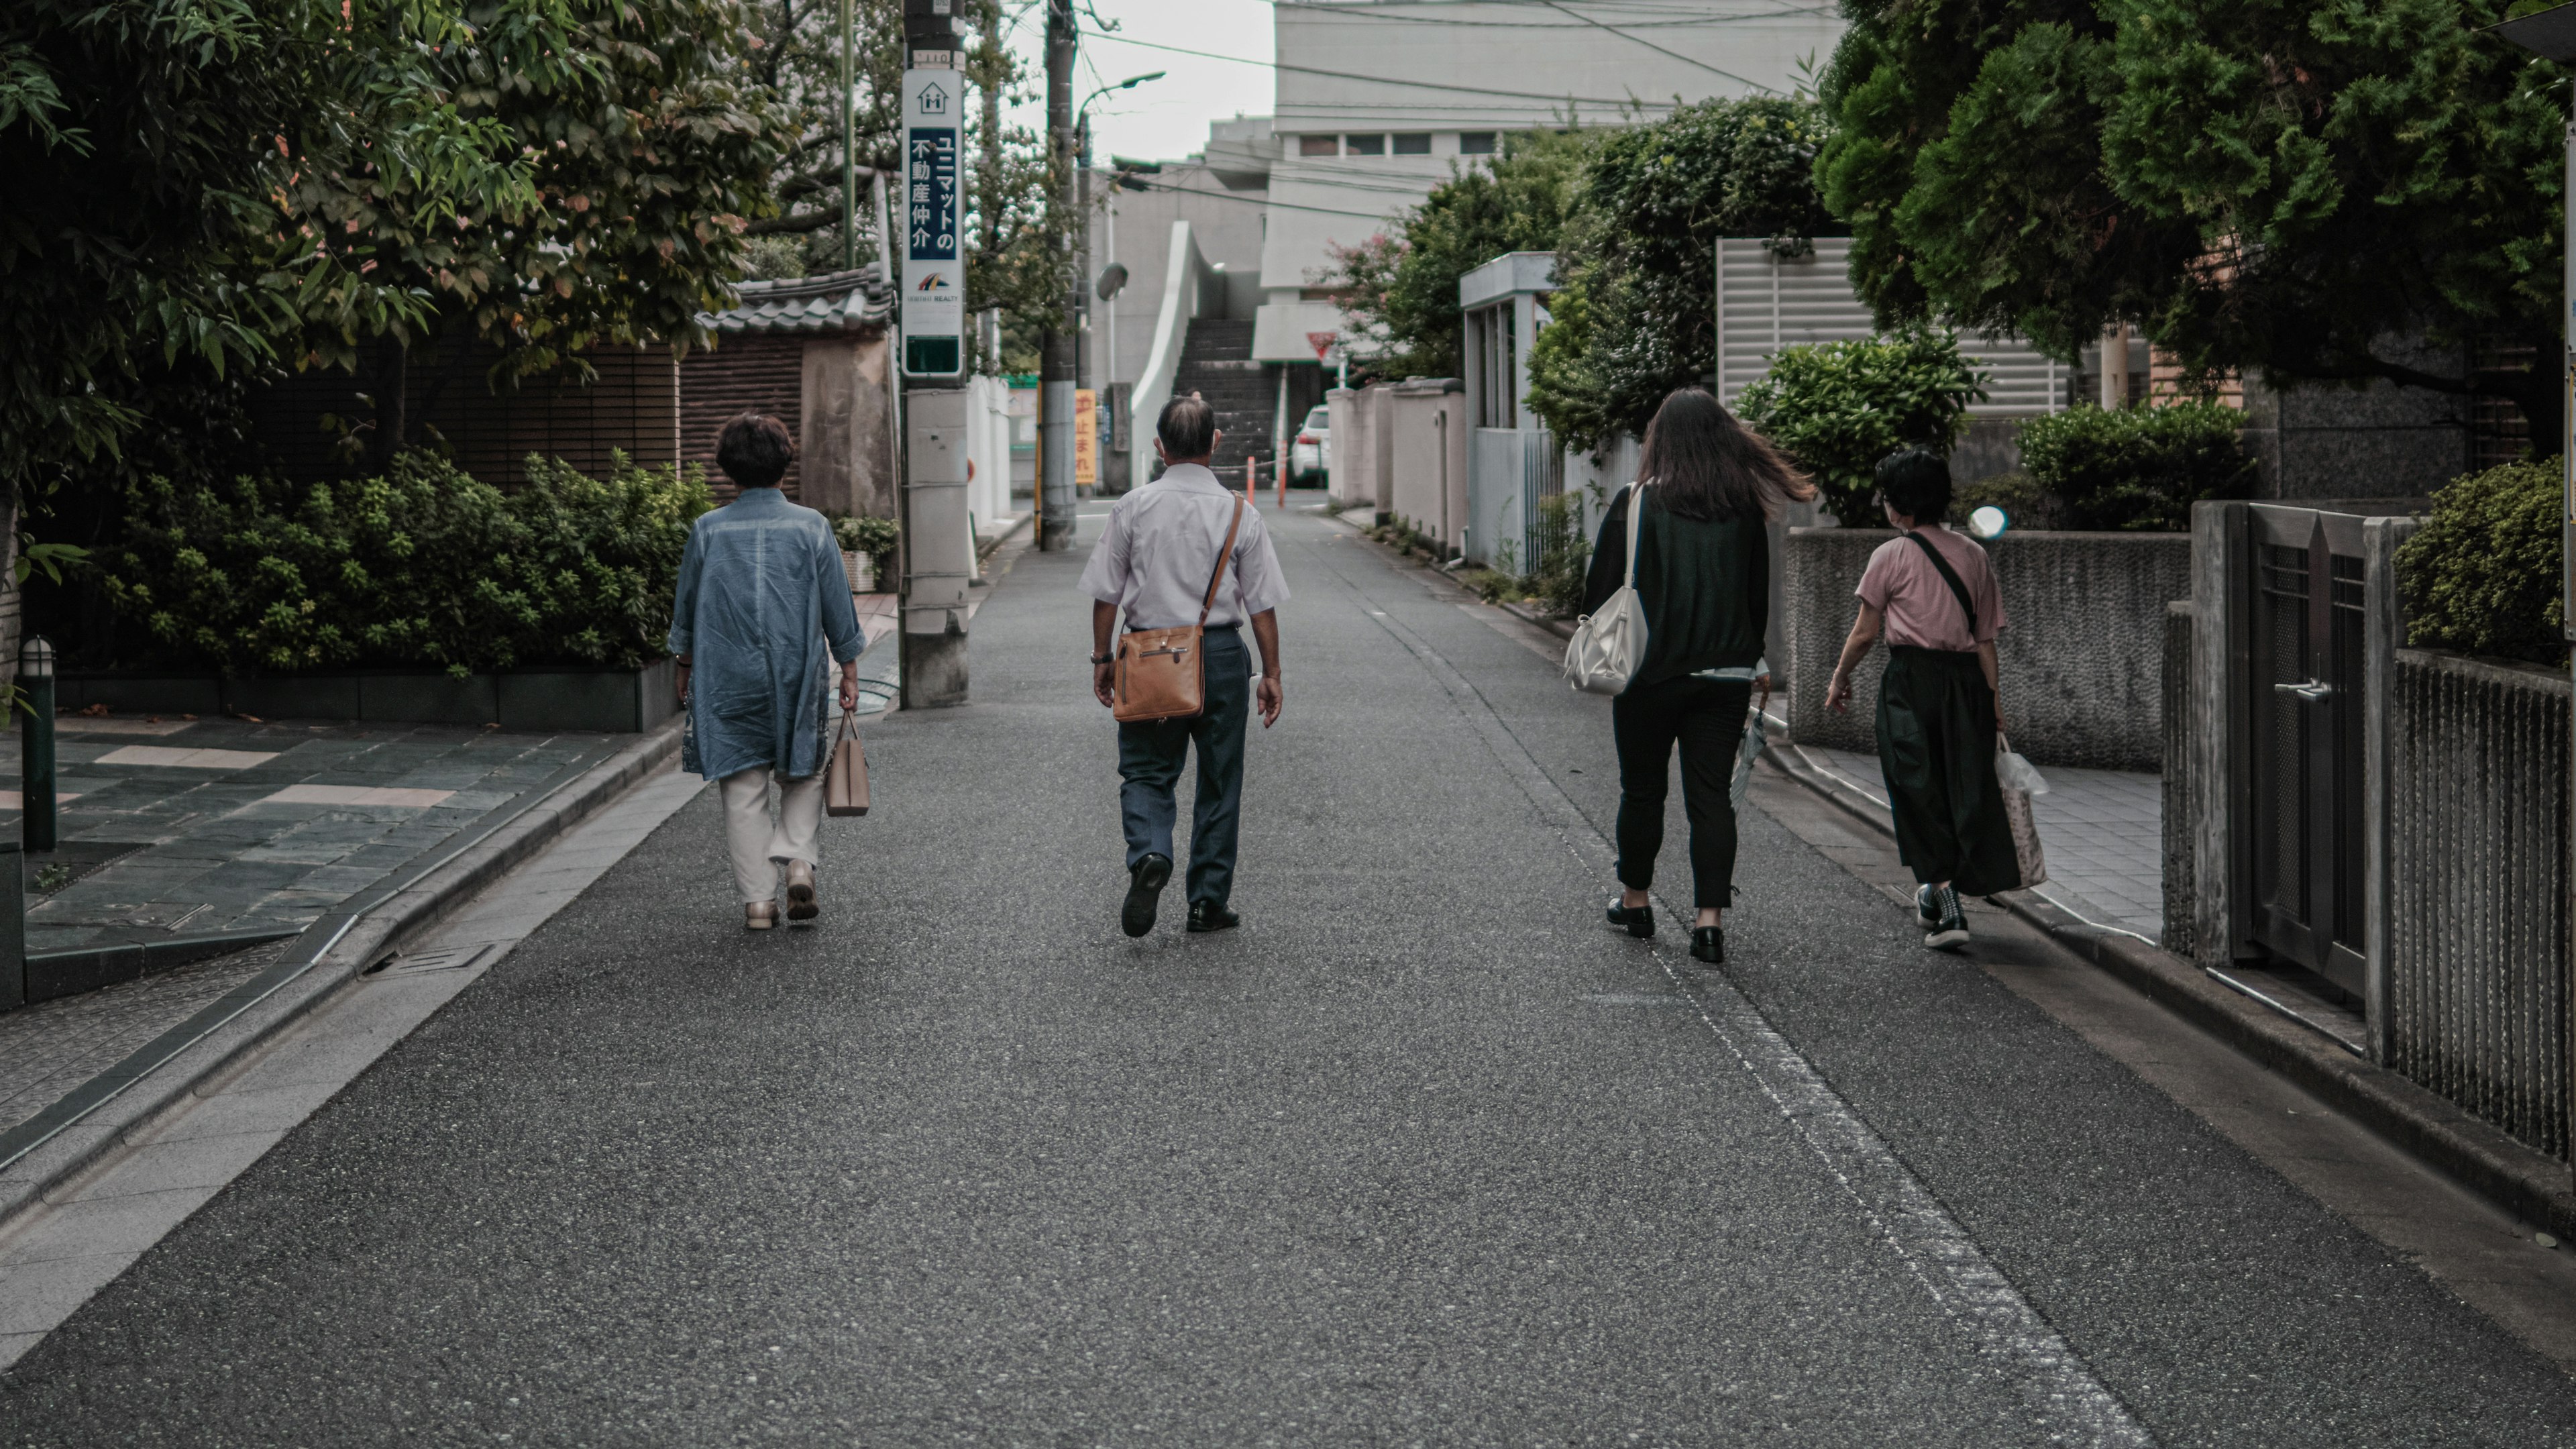
[[[1870,830],[1896,838],[1886,810],[1795,750],[1765,750],[1772,768],[1821,794]],[[2027,890],[1994,897],[1996,905],[2045,931],[2056,944],[2102,967],[2138,995],[2210,1031],[2262,1067],[2326,1098],[2434,1171],[2496,1207],[2576,1240],[2576,1186],[2568,1165],[2514,1142],[2421,1085],[2347,1052],[2311,1026],[2231,990],[2182,957],[2125,931],[2110,931]]]

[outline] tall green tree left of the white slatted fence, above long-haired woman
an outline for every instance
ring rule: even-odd
[[[1703,101],[1605,131],[1558,240],[1553,322],[1530,351],[1530,410],[1569,443],[1641,433],[1664,394],[1716,371],[1716,242],[1803,255],[1832,232],[1811,101]]]

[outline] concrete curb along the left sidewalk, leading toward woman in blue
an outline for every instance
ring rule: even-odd
[[[680,755],[683,719],[672,717],[657,724],[616,755],[608,755],[554,794],[533,802],[456,859],[376,902],[312,969],[276,987],[118,1096],[28,1150],[0,1173],[0,1232],[28,1207],[41,1204],[64,1178],[142,1134],[167,1111],[188,1106],[198,1096],[198,1088],[227,1075],[265,1042],[276,1039],[278,1031],[358,977],[368,964],[438,926],[459,905],[482,895],[484,887],[675,761]]]

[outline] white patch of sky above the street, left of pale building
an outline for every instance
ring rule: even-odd
[[[1113,90],[1092,101],[1092,160],[1113,155],[1133,160],[1180,160],[1208,144],[1208,121],[1229,116],[1267,116],[1273,88],[1273,34],[1267,0],[1074,0],[1082,15],[1082,52],[1074,62],[1074,103],[1100,85],[1115,85],[1149,70],[1167,72],[1136,90]],[[1092,13],[1113,21],[1121,34],[1141,41],[1182,46],[1247,62],[1200,59],[1095,36]],[[1015,0],[1010,46],[1033,77],[1041,101],[1020,106],[1012,124],[1046,129],[1046,5]]]

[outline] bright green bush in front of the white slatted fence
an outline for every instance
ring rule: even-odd
[[[1958,353],[1958,335],[1909,327],[1852,343],[1783,348],[1736,413],[1798,459],[1844,526],[1878,523],[1878,459],[1896,449],[1947,454],[1968,428],[1984,374]]]

